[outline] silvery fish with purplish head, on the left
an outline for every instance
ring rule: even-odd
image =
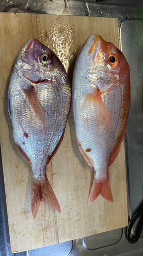
[[[70,105],[71,88],[62,62],[38,39],[28,39],[10,76],[8,111],[13,139],[32,166],[34,218],[42,201],[61,212],[46,167],[63,140]]]

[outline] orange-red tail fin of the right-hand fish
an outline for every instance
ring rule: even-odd
[[[113,202],[113,197],[109,184],[109,175],[107,176],[107,179],[103,182],[97,182],[96,178],[94,178],[91,193],[89,196],[89,204],[91,204],[100,194],[107,201]]]

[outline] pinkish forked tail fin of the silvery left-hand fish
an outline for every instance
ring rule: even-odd
[[[45,175],[42,183],[36,183],[33,181],[32,189],[32,214],[35,218],[41,202],[45,202],[54,210],[61,212],[60,205],[56,199],[52,187]]]

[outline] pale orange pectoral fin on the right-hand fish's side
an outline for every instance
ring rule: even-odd
[[[87,99],[94,100],[99,118],[104,119],[108,126],[113,130],[112,119],[100,95],[101,93],[99,89],[95,89],[92,93],[87,93]]]

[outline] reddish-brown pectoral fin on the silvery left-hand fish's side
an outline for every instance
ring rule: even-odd
[[[34,90],[34,87],[31,86],[28,89],[23,89],[23,92],[28,97],[28,100],[30,101],[31,106],[32,106],[33,110],[35,111],[38,119],[42,122],[42,124],[44,126],[45,133],[46,133],[46,123],[45,123],[44,112],[43,112],[42,106],[39,102],[39,99],[36,95],[36,92]]]

